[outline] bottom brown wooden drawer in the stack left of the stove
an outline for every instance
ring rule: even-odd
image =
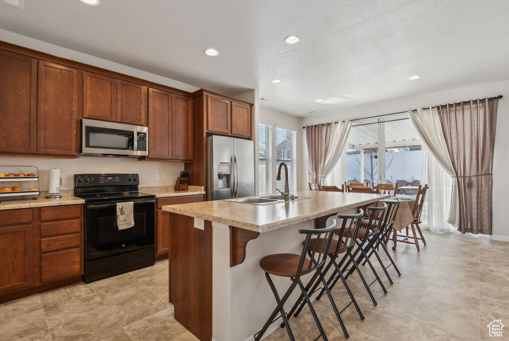
[[[81,248],[41,255],[41,282],[54,282],[77,276],[81,271]]]

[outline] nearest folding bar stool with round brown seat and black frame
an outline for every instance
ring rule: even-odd
[[[293,336],[292,328],[290,327],[290,323],[288,322],[288,316],[285,313],[285,309],[283,308],[284,304],[295,290],[297,285],[300,287],[302,291],[302,296],[304,297],[313,318],[317,324],[318,329],[320,330],[320,335],[316,338],[318,339],[320,336],[323,337],[324,341],[328,341],[327,336],[325,335],[325,331],[323,330],[322,324],[318,319],[318,316],[315,312],[315,308],[309,299],[307,291],[300,280],[301,275],[305,275],[315,271],[312,281],[316,278],[323,277],[322,270],[326,261],[327,252],[320,253],[318,250],[329,250],[330,243],[332,240],[334,229],[336,228],[336,222],[333,221],[331,226],[323,229],[300,229],[299,233],[304,234],[306,236],[304,240],[304,247],[302,248],[302,253],[300,255],[296,254],[275,254],[269,255],[262,258],[260,261],[260,267],[265,271],[265,277],[267,278],[267,282],[269,282],[270,289],[274,293],[274,297],[276,299],[277,305],[274,308],[274,311],[270,315],[269,319],[263,326],[263,328],[254,334],[254,340],[258,341],[262,338],[263,334],[267,331],[267,328],[274,323],[277,314],[281,314],[281,318],[283,319],[283,324],[286,327],[288,332],[288,336],[290,340],[295,341],[295,337]],[[319,242],[315,242],[312,247],[311,259],[310,261],[306,258],[306,253],[309,250],[309,244],[311,237],[316,235]],[[288,288],[287,292],[282,298],[279,298],[279,294],[274,287],[274,283],[272,282],[270,275],[281,276],[281,277],[289,277],[292,280],[292,284]]]

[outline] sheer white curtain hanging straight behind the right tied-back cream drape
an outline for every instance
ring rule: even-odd
[[[420,183],[427,183],[430,189],[422,208],[423,224],[420,227],[434,232],[454,232],[456,229],[447,223],[453,178],[438,163],[426,144],[421,145],[421,159]]]

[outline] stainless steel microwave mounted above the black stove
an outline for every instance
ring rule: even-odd
[[[81,153],[91,157],[148,156],[149,129],[95,119],[81,120]]]

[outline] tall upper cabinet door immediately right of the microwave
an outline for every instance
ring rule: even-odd
[[[172,159],[172,93],[149,89],[149,159]]]

